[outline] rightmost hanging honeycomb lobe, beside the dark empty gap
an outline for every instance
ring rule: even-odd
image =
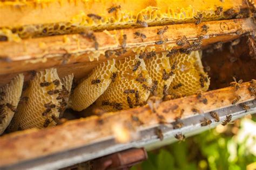
[[[188,96],[208,89],[210,79],[204,72],[200,55],[199,51],[192,51],[190,54],[177,53],[170,57],[171,65],[177,62],[176,76],[169,88],[170,94]]]

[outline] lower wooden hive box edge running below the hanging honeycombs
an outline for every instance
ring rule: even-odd
[[[248,91],[249,86],[250,83],[246,82],[242,83],[241,88],[237,91],[233,87],[227,87],[208,91],[200,99],[196,95],[192,95],[162,102],[157,109],[157,114],[163,116],[167,123],[171,123],[179,116],[181,118],[193,116],[196,114],[194,110],[203,114],[229,107],[236,95],[241,96],[238,103],[251,101],[254,100],[254,96],[251,96]],[[202,102],[203,98],[207,99],[207,103]],[[237,105],[237,107],[240,106]],[[183,114],[181,114],[182,112]],[[113,138],[113,126],[116,124],[127,125],[126,128],[129,131],[145,130],[159,124],[157,114],[153,113],[146,105],[135,109],[109,112],[101,117],[80,118],[55,128],[31,129],[5,134],[0,138],[0,166],[16,164]],[[137,116],[143,124],[140,125],[133,121],[132,115]],[[99,123],[100,119],[103,120],[103,123]]]

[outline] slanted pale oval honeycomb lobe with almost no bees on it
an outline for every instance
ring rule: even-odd
[[[111,83],[112,73],[117,72],[116,60],[101,63],[92,70],[87,79],[81,81],[70,96],[69,107],[76,111],[82,111],[89,107],[104,93]],[[99,80],[99,83],[92,81]]]

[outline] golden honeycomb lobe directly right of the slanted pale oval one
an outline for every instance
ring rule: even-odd
[[[138,62],[140,62],[140,65],[135,70],[134,68],[138,65]],[[143,59],[139,59],[138,56],[130,56],[124,60],[117,61],[116,67],[118,70],[116,80],[110,83],[109,88],[96,100],[94,107],[104,109],[105,111],[117,111],[144,104],[150,95],[150,91],[144,89],[143,84],[151,86],[152,80],[146,70]],[[137,81],[139,76],[144,77],[145,80]],[[125,94],[125,90],[134,90],[133,92],[135,93]],[[136,91],[138,91],[138,97],[136,97]],[[130,104],[127,101],[128,96],[131,99]],[[106,101],[120,103],[120,107],[103,104]]]

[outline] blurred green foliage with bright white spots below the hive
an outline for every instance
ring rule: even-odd
[[[256,169],[256,116],[148,152],[139,169]]]

